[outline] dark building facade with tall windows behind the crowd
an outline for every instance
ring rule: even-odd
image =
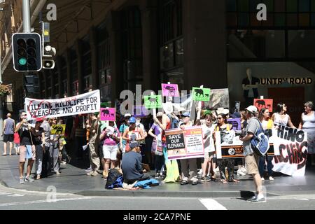
[[[15,109],[23,104],[21,76],[9,57],[11,33],[22,22],[18,2],[6,1],[3,21],[11,22],[1,23],[3,80],[14,83]],[[157,91],[169,81],[180,90],[228,87],[232,109],[236,101],[246,105],[242,82],[251,69],[259,96],[286,102],[295,123],[304,101],[314,99],[313,0],[32,1],[39,33],[36,13],[48,22],[50,3],[57,6],[57,20],[50,21],[56,66],[38,72],[39,97],[99,89],[102,102],[113,104],[122,90],[141,84],[143,91]],[[257,18],[260,3],[267,20]]]

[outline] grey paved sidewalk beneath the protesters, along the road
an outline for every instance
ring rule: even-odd
[[[2,144],[1,144],[2,146]],[[2,147],[1,154],[2,154]],[[208,182],[197,186],[181,186],[179,183],[161,183],[147,190],[106,190],[102,175],[87,176],[85,169],[78,168],[78,161],[61,165],[62,174],[34,181],[19,183],[18,155],[0,156],[0,183],[8,188],[31,191],[46,191],[55,186],[57,193],[85,196],[129,196],[129,197],[248,197],[254,191],[251,176],[239,178],[240,183]],[[75,166],[76,165],[76,166]],[[267,196],[315,194],[315,167],[309,167],[303,177],[276,176],[274,181],[263,183]]]

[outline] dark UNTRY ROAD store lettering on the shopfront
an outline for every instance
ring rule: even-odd
[[[260,85],[282,85],[288,83],[291,85],[311,85],[312,78],[260,78]]]

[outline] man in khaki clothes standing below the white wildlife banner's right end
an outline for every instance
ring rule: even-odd
[[[88,172],[88,176],[97,176],[99,174],[100,160],[98,154],[98,145],[99,145],[99,123],[95,113],[91,113],[90,118],[92,119],[90,127],[90,139],[88,146],[90,148],[90,164],[92,171]]]

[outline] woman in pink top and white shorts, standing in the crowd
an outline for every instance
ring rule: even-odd
[[[104,155],[104,172],[103,177],[107,179],[109,176],[109,164],[111,164],[111,169],[116,167],[117,152],[118,152],[118,143],[120,141],[120,132],[114,127],[115,123],[109,121],[109,127],[102,132],[99,137],[100,140],[104,139],[103,145],[103,155]]]

